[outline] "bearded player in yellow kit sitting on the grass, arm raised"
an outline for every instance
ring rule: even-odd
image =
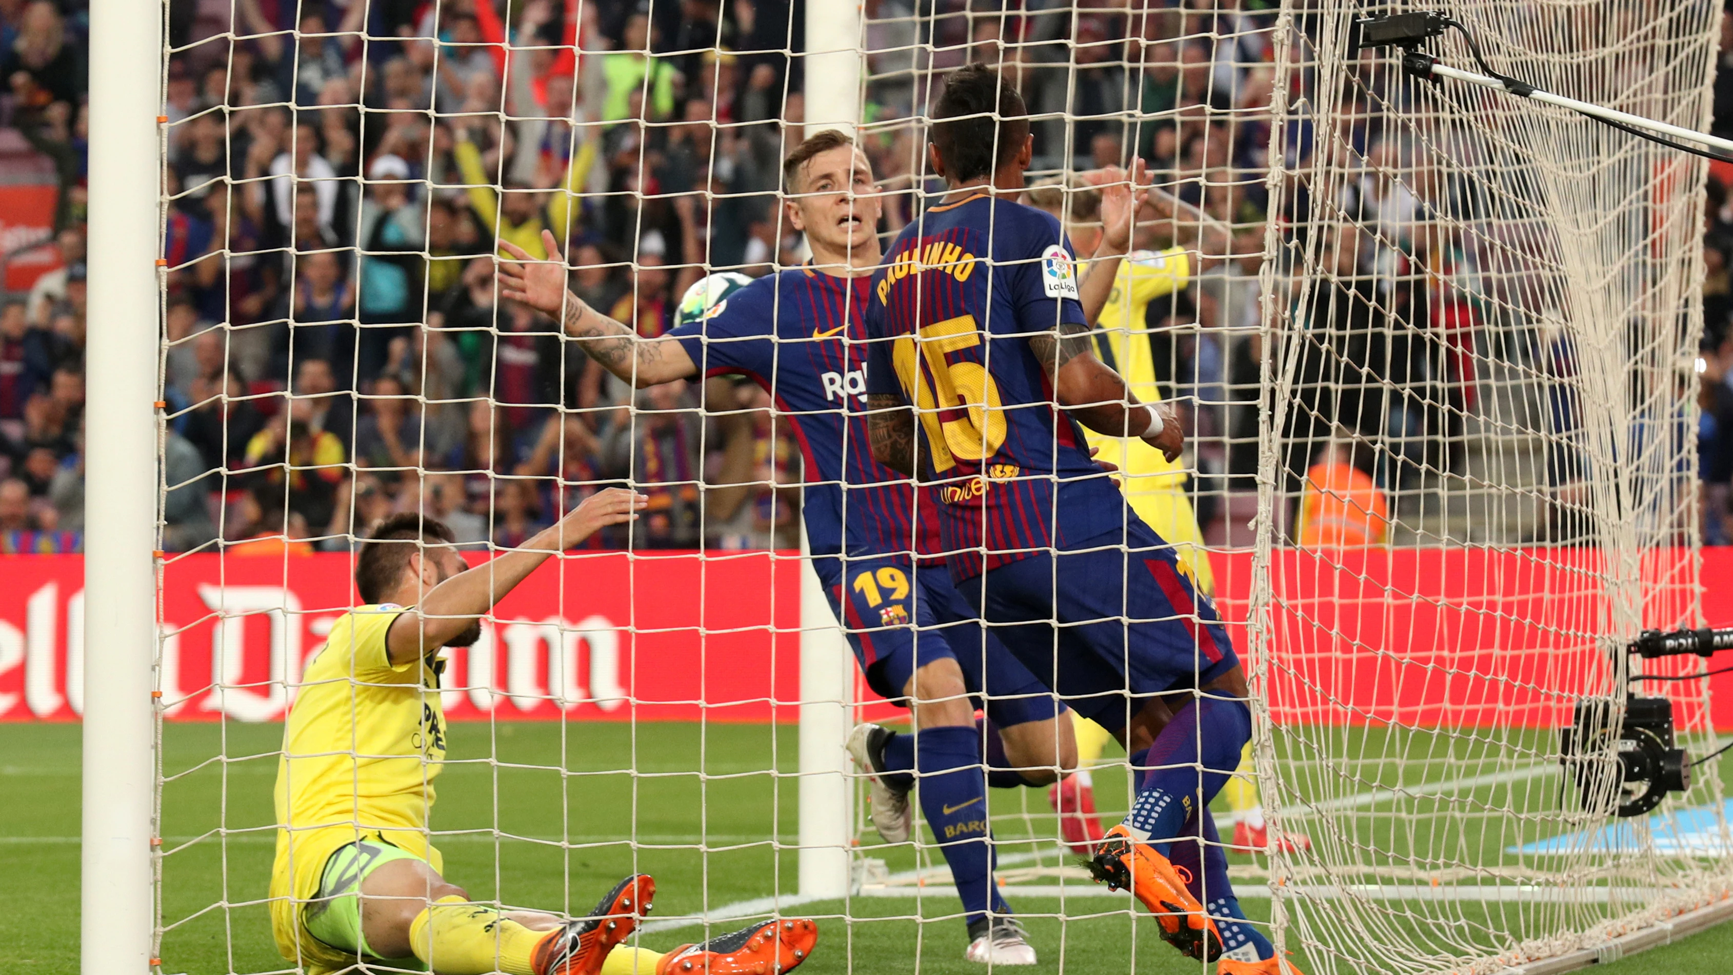
[[[308,662],[277,760],[277,949],[314,975],[357,963],[444,975],[773,975],[806,959],[818,928],[761,921],[667,954],[619,947],[650,913],[655,881],[633,875],[589,916],[499,911],[444,876],[430,843],[445,759],[440,649],[470,646],[480,618],[549,556],[648,499],[591,495],[523,547],[468,568],[445,525],[381,521],[355,559],[364,606],[340,617]]]

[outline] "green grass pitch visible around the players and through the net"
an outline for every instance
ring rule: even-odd
[[[7,909],[0,911],[0,972],[5,973],[78,970],[78,731],[76,726],[0,726],[0,856],[9,880]],[[170,850],[163,866],[163,918],[172,928],[163,944],[165,972],[284,968],[258,902],[270,871],[270,788],[279,736],[279,726],[178,724],[165,729],[163,769],[175,776],[163,790],[165,850]],[[1471,774],[1475,759],[1489,753],[1487,748],[1509,746],[1508,741],[1440,741],[1366,736],[1343,743],[1345,753],[1366,755],[1366,762],[1317,765],[1303,781],[1329,795],[1414,785],[1461,774],[1464,767]],[[773,752],[778,776],[768,772]],[[215,760],[222,755],[229,760]],[[613,880],[638,869],[655,875],[657,914],[665,918],[797,887],[795,852],[776,849],[778,842],[794,842],[797,823],[794,727],[458,724],[451,729],[449,757],[452,764],[438,779],[433,824],[442,833],[475,831],[437,840],[447,876],[468,887],[471,897],[586,911]],[[496,762],[487,762],[489,757]],[[1293,759],[1303,760],[1303,755]],[[634,765],[638,776],[627,771]],[[1123,776],[1099,772],[1097,793],[1104,807],[1123,809]],[[1416,807],[1411,812],[1418,812],[1421,823],[1400,833],[1374,830],[1388,817],[1355,817],[1343,842],[1412,850],[1438,862],[1475,856],[1503,862],[1508,859],[1499,852],[1503,845],[1534,836],[1516,826],[1489,828],[1490,817],[1478,809],[1529,807],[1541,802],[1542,793],[1546,788],[1534,785],[1477,786],[1459,793],[1473,800],[1466,812],[1428,816]],[[1556,802],[1551,795],[1544,798]],[[1014,816],[1019,809],[1035,814],[1019,819]],[[1045,802],[1033,790],[995,791],[993,812],[998,835],[1007,842],[1005,854],[1031,849],[1016,845],[1019,826],[1022,836],[1054,835],[1043,809]],[[496,838],[496,831],[503,836]],[[891,871],[917,866],[910,847],[877,849],[872,856],[886,859]],[[1052,852],[1042,856],[1043,866],[1061,862]],[[1251,861],[1236,857],[1236,862]],[[1267,918],[1267,899],[1248,897],[1244,906],[1255,920]],[[1078,972],[1198,972],[1196,963],[1180,959],[1156,939],[1152,920],[1133,920],[1125,901],[1090,897],[1062,906],[1057,899],[1017,897],[1016,907],[1042,952],[1040,970],[1064,965]],[[925,897],[918,904],[913,899],[854,899],[802,906],[801,913],[821,918],[823,932],[804,972],[915,972],[917,966],[934,975],[981,972],[962,961],[965,935],[953,916],[957,909],[948,895]],[[1061,909],[1069,914],[1064,925],[1054,916]],[[1447,913],[1400,911],[1395,921],[1421,940],[1428,940],[1426,935],[1449,939],[1451,928],[1454,937],[1473,940],[1463,932],[1497,928],[1522,914],[1509,913],[1511,907],[1504,911],[1489,914],[1478,904],[1456,904]],[[719,930],[728,927],[733,925]],[[665,949],[697,932],[688,927],[646,933],[641,944]],[[1710,959],[1724,965],[1728,952],[1733,952],[1733,925],[1639,954],[1606,972],[1712,970]]]

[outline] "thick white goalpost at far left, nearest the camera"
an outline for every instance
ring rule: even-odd
[[[151,970],[158,504],[158,113],[165,7],[90,5],[85,975]],[[71,651],[76,655],[76,648]],[[78,681],[69,662],[68,684]]]

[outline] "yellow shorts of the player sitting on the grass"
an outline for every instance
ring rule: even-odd
[[[319,899],[331,854],[357,842],[390,843],[423,859],[444,876],[445,857],[426,842],[426,835],[407,830],[366,830],[331,826],[321,830],[277,831],[277,859],[270,869],[270,935],[277,952],[307,968],[307,975],[333,975],[352,970],[355,954],[333,947],[307,930],[307,906]]]

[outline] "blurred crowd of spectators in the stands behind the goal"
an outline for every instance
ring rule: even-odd
[[[646,336],[672,326],[704,267],[799,263],[775,194],[804,116],[801,61],[789,57],[802,7],[172,0],[165,547],[347,549],[373,520],[418,507],[463,542],[511,546],[626,478],[653,497],[652,511],[598,546],[795,544],[799,449],[768,393],[724,379],[624,388],[553,320],[497,301],[490,255],[504,239],[542,256],[541,230],[553,230],[577,268],[575,293]],[[925,107],[936,73],[967,61],[1005,62],[1026,92],[1040,114],[1036,168],[1137,154],[1239,229],[1241,258],[1152,303],[1149,322],[1161,329],[1163,391],[1187,404],[1196,429],[1198,514],[1217,528],[1244,525],[1256,471],[1269,147],[1258,109],[1274,81],[1272,7],[865,2],[865,147],[894,194],[884,232],[934,187],[920,177],[918,130],[894,121]],[[59,185],[57,270],[0,301],[0,551],[71,551],[80,539],[87,35],[81,0],[0,0],[0,128]],[[1733,28],[1719,66],[1714,119],[1730,133]],[[1068,123],[1062,113],[1159,113],[1159,123]],[[1367,119],[1355,135],[1364,154],[1395,152]],[[1412,218],[1412,194],[1376,166],[1355,192],[1366,220]],[[1721,180],[1710,182],[1707,242],[1700,478],[1705,539],[1728,544],[1733,199]],[[1322,253],[1357,279],[1379,260],[1353,234]],[[1312,312],[1350,320],[1378,305],[1353,287],[1321,289]],[[1414,310],[1399,326],[1449,334],[1457,353],[1442,365],[1421,362],[1404,327],[1371,320],[1357,334],[1388,336],[1386,346],[1333,352],[1348,365],[1395,362],[1379,378],[1393,397],[1326,393],[1340,386],[1327,357],[1301,364],[1301,381],[1321,391],[1282,431],[1296,495],[1314,464],[1393,492],[1454,462],[1452,417],[1477,395],[1473,339],[1437,298],[1381,307]],[[1568,355],[1548,355],[1570,367]],[[1360,449],[1367,440],[1385,447],[1383,462]],[[1555,468],[1555,481],[1568,481],[1568,462]]]

